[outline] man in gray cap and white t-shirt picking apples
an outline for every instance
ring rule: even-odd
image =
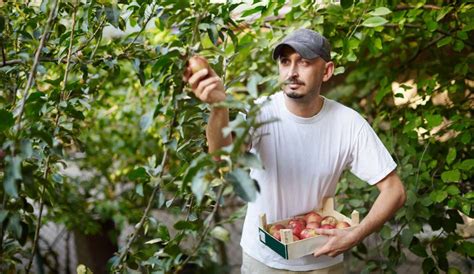
[[[258,118],[279,121],[258,128],[252,140],[251,149],[262,159],[264,169],[251,171],[261,191],[249,203],[244,222],[242,273],[344,273],[342,253],[395,214],[405,202],[404,187],[395,162],[362,116],[321,96],[321,84],[334,71],[325,37],[308,29],[296,30],[275,47],[273,59],[278,61],[282,91],[269,98]],[[212,69],[198,71],[187,80],[203,102],[213,104],[226,97]],[[228,122],[227,109],[212,108],[206,131],[210,152],[231,144],[231,136],[222,134]],[[274,222],[320,206],[323,197],[334,196],[346,169],[380,190],[357,228],[349,232],[318,229],[317,233],[329,237],[328,242],[313,255],[295,260],[285,260],[259,242],[260,213]]]

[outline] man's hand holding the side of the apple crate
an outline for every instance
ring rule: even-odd
[[[318,233],[319,235],[328,236],[329,239],[325,245],[323,245],[313,253],[315,257],[319,257],[321,255],[335,257],[343,253],[344,251],[351,249],[358,243],[356,235],[351,231],[347,231],[345,229],[316,228],[316,233]]]

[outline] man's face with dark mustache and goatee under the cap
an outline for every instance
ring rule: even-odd
[[[326,63],[322,58],[304,59],[291,47],[284,47],[278,62],[283,91],[292,99],[317,97],[322,82],[332,75],[328,64],[332,66],[332,62]]]

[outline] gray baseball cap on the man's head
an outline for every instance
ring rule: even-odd
[[[331,45],[326,37],[309,29],[298,29],[286,36],[273,50],[273,60],[280,57],[284,46],[293,48],[305,59],[321,57],[324,61],[331,61]]]

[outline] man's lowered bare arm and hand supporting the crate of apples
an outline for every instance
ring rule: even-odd
[[[369,214],[352,231],[341,229],[316,229],[321,235],[329,236],[328,242],[314,252],[314,256],[337,256],[360,243],[367,236],[380,229],[393,217],[406,201],[405,188],[395,171],[376,184],[380,193]]]

